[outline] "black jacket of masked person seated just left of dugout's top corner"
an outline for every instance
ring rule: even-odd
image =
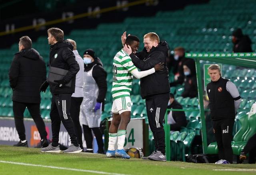
[[[190,69],[190,75],[185,76],[184,92],[182,92],[181,96],[184,98],[194,98],[198,95],[196,81],[196,65],[193,59],[188,59],[186,62],[184,62],[184,65],[186,65]]]

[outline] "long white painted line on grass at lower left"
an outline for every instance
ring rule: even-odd
[[[81,172],[88,172],[88,173],[96,173],[96,174],[108,174],[108,175],[126,175],[126,174],[119,174],[119,173],[108,173],[104,171],[93,171],[93,170],[86,170],[86,169],[74,169],[74,168],[65,168],[65,167],[54,167],[54,166],[46,166],[46,165],[36,165],[30,163],[20,163],[20,162],[12,162],[12,161],[2,161],[0,163],[10,163],[16,165],[26,165],[26,166],[33,166],[33,167],[44,167],[44,168],[52,168],[52,169],[64,169],[70,171],[81,171]]]

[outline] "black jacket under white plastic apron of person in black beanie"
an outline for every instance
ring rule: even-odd
[[[94,62],[88,65],[84,65],[84,71],[85,72],[90,71],[93,66],[94,68],[92,70],[92,77],[96,81],[99,88],[99,95],[97,97],[97,102],[103,103],[107,93],[107,73],[102,67],[103,65],[99,58],[96,58]]]

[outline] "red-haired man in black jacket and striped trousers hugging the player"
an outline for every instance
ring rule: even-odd
[[[158,35],[151,32],[144,35],[143,51],[134,54],[127,45],[124,46],[124,51],[130,55],[134,65],[141,71],[151,69],[158,63],[164,63],[163,71],[155,72],[141,79],[140,94],[143,99],[146,99],[148,123],[154,136],[156,148],[156,151],[148,159],[166,161],[165,134],[162,123],[170,92],[168,70],[166,68],[168,45],[166,41],[160,42]]]

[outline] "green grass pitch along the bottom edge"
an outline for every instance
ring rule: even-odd
[[[255,173],[255,164],[158,162],[135,158],[107,158],[105,155],[88,153],[41,153],[37,148],[0,146],[0,175],[250,175]]]

